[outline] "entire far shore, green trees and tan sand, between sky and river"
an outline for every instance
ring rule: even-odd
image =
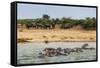
[[[17,20],[18,42],[96,41],[96,18],[50,18]]]

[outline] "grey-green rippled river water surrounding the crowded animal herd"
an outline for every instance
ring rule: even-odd
[[[81,47],[88,43],[89,47],[96,48],[96,42],[50,42],[40,43],[18,43],[17,63],[18,64],[37,64],[37,63],[53,63],[53,62],[69,62],[69,61],[86,61],[96,60],[96,50],[84,50],[80,53],[71,53],[68,56],[54,56],[38,58],[39,53],[44,48],[74,48]]]

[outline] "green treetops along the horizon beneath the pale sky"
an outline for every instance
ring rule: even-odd
[[[18,24],[42,24],[42,25],[62,25],[65,27],[67,24],[72,26],[80,25],[83,29],[94,30],[96,29],[96,18],[86,17],[85,19],[72,19],[67,17],[62,18],[50,18],[49,15],[44,14],[42,18],[36,19],[19,19]]]

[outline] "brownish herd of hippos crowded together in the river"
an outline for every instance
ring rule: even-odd
[[[75,53],[80,53],[84,52],[84,50],[94,50],[95,48],[93,47],[87,47],[88,44],[84,44],[81,48],[64,48],[62,49],[61,47],[58,48],[45,48],[42,50],[42,52],[39,53],[38,58],[44,58],[44,57],[54,57],[54,56],[68,56],[72,52]]]

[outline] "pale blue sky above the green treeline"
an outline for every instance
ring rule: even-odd
[[[48,14],[51,18],[84,19],[96,17],[96,8],[18,3],[17,19],[36,19],[41,18],[43,14]]]

